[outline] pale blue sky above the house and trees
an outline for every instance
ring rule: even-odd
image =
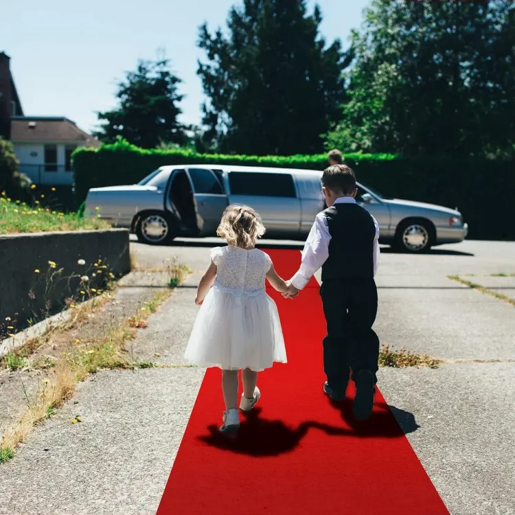
[[[91,130],[95,111],[115,105],[117,79],[138,58],[153,59],[162,47],[184,81],[182,119],[198,124],[203,101],[196,62],[198,26],[225,26],[240,0],[2,0],[0,52],[11,60],[25,115],[66,116]],[[310,8],[314,1],[308,0]],[[346,47],[369,0],[319,0],[321,32]]]

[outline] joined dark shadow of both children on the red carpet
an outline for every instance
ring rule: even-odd
[[[218,431],[218,426],[207,429],[209,435],[198,437],[202,442],[233,453],[250,456],[276,456],[289,453],[297,447],[308,431],[314,429],[335,437],[402,437],[404,433],[389,409],[374,411],[367,422],[337,427],[314,420],[299,424],[297,428],[287,426],[282,420],[268,420],[260,417],[261,409],[251,411],[240,425],[238,437],[228,438]],[[346,417],[345,417],[346,420]]]

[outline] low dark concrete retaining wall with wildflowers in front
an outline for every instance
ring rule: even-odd
[[[78,264],[81,259],[85,265]],[[108,268],[93,277],[99,269],[93,264],[99,259]],[[38,321],[58,311],[77,292],[78,276],[88,275],[95,287],[106,273],[118,276],[129,271],[126,229],[0,235],[0,336],[9,325],[6,317],[22,327],[27,320]]]

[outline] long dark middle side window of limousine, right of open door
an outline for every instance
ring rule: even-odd
[[[290,174],[230,172],[229,185],[233,195],[297,196]]]

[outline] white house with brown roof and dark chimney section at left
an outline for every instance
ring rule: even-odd
[[[25,116],[16,92],[10,57],[0,52],[0,137],[10,139],[20,172],[38,185],[73,184],[71,153],[79,146],[100,146],[65,117]]]

